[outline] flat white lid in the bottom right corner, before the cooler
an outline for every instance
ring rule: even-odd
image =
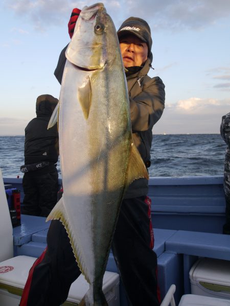
[[[201,296],[195,294],[185,294],[181,297],[178,306],[230,306],[230,300]]]

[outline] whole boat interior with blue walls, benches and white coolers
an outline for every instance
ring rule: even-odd
[[[61,186],[61,179],[59,179]],[[0,304],[19,304],[29,270],[47,245],[50,222],[9,210],[13,191],[24,197],[21,178],[0,172]],[[158,261],[161,306],[230,305],[230,235],[225,222],[223,177],[150,178],[154,251]],[[18,197],[17,197],[18,199]],[[12,205],[12,203],[11,203]],[[77,305],[88,284],[81,275],[64,306]],[[103,279],[109,306],[127,306],[124,288],[110,252]],[[140,305],[142,306],[142,305]]]

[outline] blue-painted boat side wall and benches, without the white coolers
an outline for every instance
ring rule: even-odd
[[[24,194],[21,179],[4,178]],[[61,184],[61,180],[59,180]],[[199,257],[230,261],[230,236],[221,234],[225,222],[223,177],[150,178],[149,194],[162,297],[176,285],[175,301],[191,292],[189,271]],[[46,247],[50,222],[21,215],[13,228],[14,256],[38,257]],[[112,253],[107,271],[118,272]],[[121,306],[127,306],[120,285]]]

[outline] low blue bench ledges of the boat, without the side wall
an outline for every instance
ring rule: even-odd
[[[40,256],[47,246],[49,225],[45,218],[21,215],[21,225],[13,228],[14,256]],[[164,296],[171,284],[175,284],[176,301],[182,294],[191,293],[189,271],[199,256],[230,260],[230,236],[227,235],[155,228],[154,238],[160,292]],[[106,270],[118,272],[112,253]],[[121,286],[124,299],[121,304],[126,305],[123,290]]]

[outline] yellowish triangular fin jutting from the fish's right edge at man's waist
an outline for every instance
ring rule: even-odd
[[[139,151],[136,149],[136,146],[132,144],[128,167],[127,184],[131,184],[132,181],[138,178],[149,179],[149,174]]]

